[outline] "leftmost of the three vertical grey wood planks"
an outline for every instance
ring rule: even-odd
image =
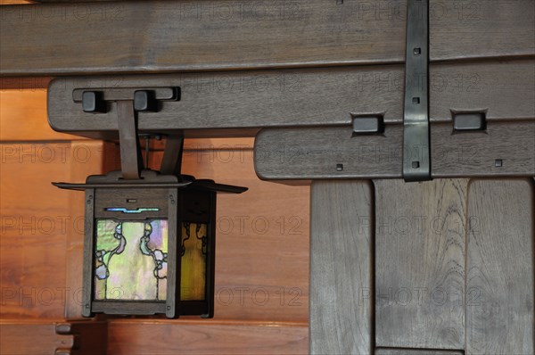
[[[312,354],[372,351],[372,191],[369,181],[312,184]]]

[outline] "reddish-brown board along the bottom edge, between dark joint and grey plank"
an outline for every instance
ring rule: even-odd
[[[114,320],[111,354],[307,354],[301,323]]]

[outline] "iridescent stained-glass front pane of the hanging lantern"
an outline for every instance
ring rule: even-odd
[[[168,221],[95,222],[95,300],[165,301]]]

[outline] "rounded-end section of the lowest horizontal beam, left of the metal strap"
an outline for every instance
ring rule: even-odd
[[[351,126],[266,128],[255,139],[261,179],[401,177],[403,126],[353,136]]]

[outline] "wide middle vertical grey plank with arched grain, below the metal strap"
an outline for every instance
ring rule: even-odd
[[[375,180],[378,347],[465,347],[467,179]]]

